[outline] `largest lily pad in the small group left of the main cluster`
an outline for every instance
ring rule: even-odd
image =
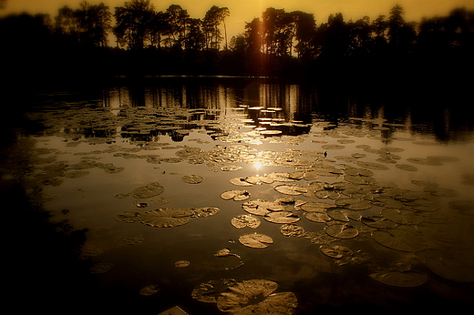
[[[143,213],[141,223],[157,228],[172,228],[191,222],[193,211],[186,208],[159,208]]]

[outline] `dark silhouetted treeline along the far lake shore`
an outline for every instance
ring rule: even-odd
[[[82,2],[53,17],[8,15],[0,19],[2,62],[15,63],[15,72],[45,76],[343,77],[343,71],[380,74],[386,67],[426,72],[472,66],[474,12],[464,8],[407,22],[395,5],[376,19],[345,21],[337,13],[318,24],[313,14],[269,7],[228,38],[230,14],[213,5],[195,18],[180,5],[157,11],[149,0],[130,0],[113,10]]]

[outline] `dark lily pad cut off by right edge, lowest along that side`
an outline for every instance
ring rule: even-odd
[[[425,265],[439,277],[456,282],[474,282],[474,269],[456,259],[428,257]]]

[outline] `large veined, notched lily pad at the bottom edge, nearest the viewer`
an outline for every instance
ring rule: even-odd
[[[273,293],[276,282],[265,279],[243,280],[222,292],[217,299],[217,308],[232,314],[291,314],[297,306],[292,292]],[[263,299],[254,303],[255,299]]]

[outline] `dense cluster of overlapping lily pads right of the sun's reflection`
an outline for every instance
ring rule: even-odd
[[[341,176],[345,180],[332,183],[314,180],[321,175]],[[321,253],[335,259],[339,266],[368,259],[366,253],[354,251],[344,244],[345,239],[355,239],[362,233],[370,234],[376,243],[386,248],[411,253],[447,249],[456,243],[446,231],[438,229],[439,224],[451,220],[440,211],[441,198],[457,196],[455,190],[421,180],[412,180],[414,185],[422,188],[418,191],[381,187],[373,175],[366,168],[335,169],[331,166],[319,170],[232,178],[230,182],[242,188],[271,184],[274,190],[289,197],[252,200],[251,193],[242,188],[226,190],[221,197],[242,201],[242,209],[246,213],[232,218],[234,228],[257,229],[261,226],[261,218],[280,224],[280,232],[284,236],[309,239],[319,245]],[[448,202],[448,207],[460,215],[474,216],[474,201],[452,200]],[[307,231],[296,223],[301,219],[325,226],[322,230]],[[255,249],[273,244],[270,236],[257,232],[242,234],[239,241]],[[442,278],[474,281],[474,268],[466,262],[436,255],[424,259],[426,267]],[[370,277],[398,287],[418,286],[428,279],[426,273],[407,266],[399,269],[376,268]]]

